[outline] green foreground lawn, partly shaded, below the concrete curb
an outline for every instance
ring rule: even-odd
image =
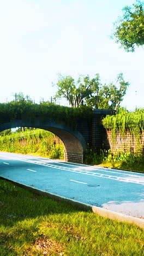
[[[80,211],[0,179],[0,255],[144,255],[138,226]]]

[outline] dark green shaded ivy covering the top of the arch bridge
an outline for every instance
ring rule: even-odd
[[[92,113],[92,108],[85,106],[70,108],[47,102],[36,104],[26,101],[0,103],[0,123],[8,123],[11,119],[22,119],[34,123],[37,118],[40,118],[44,123],[55,121],[75,128],[79,119],[91,119]]]

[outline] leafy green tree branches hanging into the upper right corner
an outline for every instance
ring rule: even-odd
[[[143,2],[136,1],[133,7],[124,7],[124,14],[114,24],[112,38],[120,43],[125,51],[135,51],[135,46],[144,44]]]

